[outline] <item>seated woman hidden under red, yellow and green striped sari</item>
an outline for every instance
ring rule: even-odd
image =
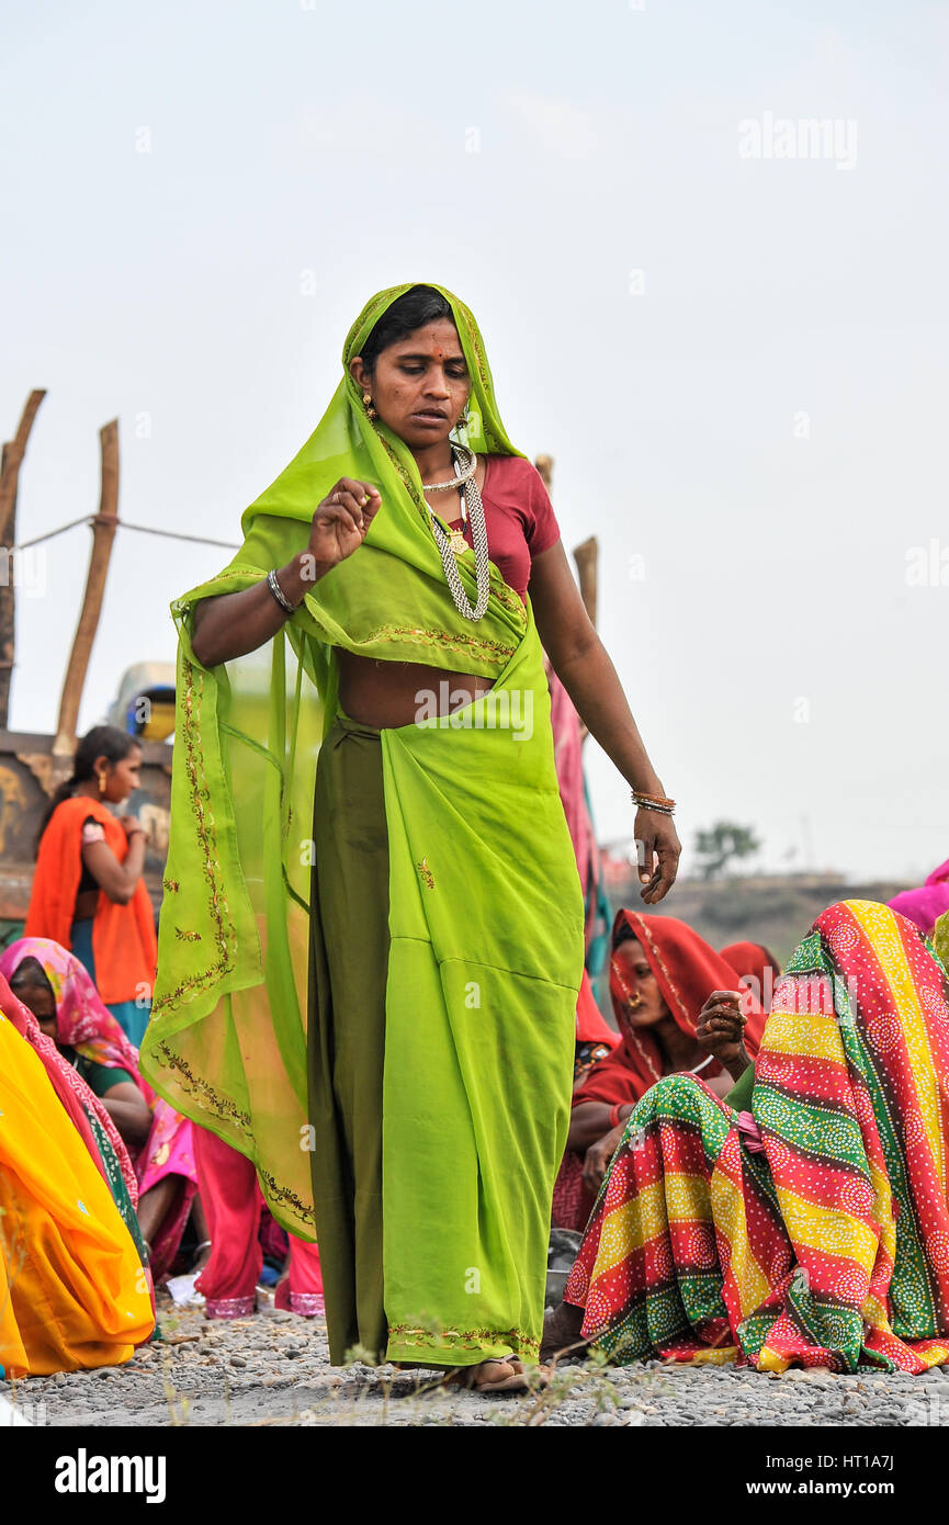
[[[542,1359],[578,1342],[758,1371],[947,1362],[947,1002],[889,907],[818,917],[734,1092],[673,1075],[635,1107]],[[738,1057],[734,1019],[703,1042]]]

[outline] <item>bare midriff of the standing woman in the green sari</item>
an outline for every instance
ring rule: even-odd
[[[355,651],[336,651],[339,702],[351,720],[389,729],[410,726],[420,711],[447,715],[494,688],[490,677],[452,673],[424,662],[380,662]],[[427,700],[426,695],[433,698]],[[420,697],[421,695],[421,697]]]

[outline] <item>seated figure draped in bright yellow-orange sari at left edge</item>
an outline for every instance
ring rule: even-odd
[[[12,1005],[5,984],[0,997]],[[116,1366],[154,1328],[148,1278],[69,1107],[3,1010],[0,1115],[0,1366]]]

